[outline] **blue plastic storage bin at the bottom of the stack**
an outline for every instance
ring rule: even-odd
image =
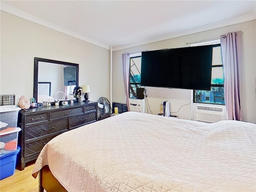
[[[0,180],[14,174],[19,151],[20,147],[13,152],[0,155]]]

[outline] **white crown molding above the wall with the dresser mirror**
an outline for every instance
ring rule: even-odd
[[[18,9],[16,9],[16,8],[14,8],[14,7],[12,7],[12,6],[9,6],[9,5],[7,5],[7,4],[4,4],[4,3],[2,3],[2,2],[1,2],[1,4],[0,4],[0,10],[5,11],[5,12],[8,12],[8,13],[10,13],[10,14],[13,14],[13,15],[15,15],[15,16],[18,16],[18,17],[20,17],[20,18],[29,20],[29,21],[31,21],[31,22],[40,24],[40,25],[42,25],[42,26],[46,26],[46,27],[48,27],[48,28],[51,28],[51,29],[53,29],[53,30],[62,32],[62,33],[64,33],[64,34],[67,34],[67,35],[70,35],[70,36],[72,36],[72,37],[78,38],[78,39],[80,39],[80,40],[89,42],[89,43],[91,43],[91,44],[94,44],[94,45],[97,45],[97,46],[100,46],[100,47],[102,47],[102,48],[105,48],[105,49],[110,50],[110,46],[108,46],[108,45],[106,45],[106,44],[97,42],[97,41],[95,41],[95,40],[93,40],[93,39],[90,39],[90,38],[88,38],[88,37],[86,37],[86,36],[82,36],[82,35],[80,35],[80,34],[78,34],[78,33],[76,33],[76,32],[73,32],[73,31],[68,30],[68,29],[66,29],[66,28],[63,28],[63,27],[60,27],[60,26],[58,26],[58,25],[52,24],[51,22],[48,22],[48,21],[46,21],[46,20],[43,20],[43,19],[38,18],[38,17],[36,17],[36,16],[33,16],[33,15],[31,15],[31,14],[28,14],[28,13],[26,13],[26,12],[24,12],[24,11],[18,10]]]

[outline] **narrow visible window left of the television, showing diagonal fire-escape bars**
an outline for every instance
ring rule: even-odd
[[[136,98],[136,88],[140,88],[141,53],[130,55],[129,98]]]

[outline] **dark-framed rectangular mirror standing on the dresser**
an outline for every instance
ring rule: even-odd
[[[74,100],[78,88],[78,64],[34,58],[34,98],[36,102]]]

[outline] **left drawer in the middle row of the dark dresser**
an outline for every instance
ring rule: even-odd
[[[68,118],[25,127],[25,142],[40,136],[68,130]]]

